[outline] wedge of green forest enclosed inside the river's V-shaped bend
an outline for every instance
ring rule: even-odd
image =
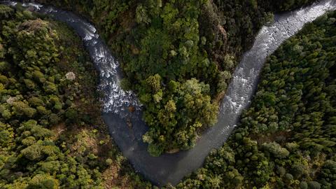
[[[192,148],[216,123],[231,73],[272,12],[312,0],[41,1],[97,25],[144,104],[152,155]]]

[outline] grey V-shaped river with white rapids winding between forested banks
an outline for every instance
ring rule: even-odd
[[[11,6],[16,4],[15,1],[1,2]],[[283,41],[296,34],[305,23],[315,20],[328,10],[336,10],[335,0],[324,0],[299,10],[275,15],[275,22],[262,27],[253,47],[244,54],[233,73],[232,83],[221,102],[218,123],[202,134],[195,148],[155,158],[148,154],[147,145],[142,141],[142,135],[146,133],[148,127],[141,120],[141,104],[134,93],[125,92],[120,88],[120,78],[123,76],[120,64],[113,58],[109,47],[99,37],[95,27],[69,11],[37,3],[22,5],[65,22],[83,39],[85,48],[99,71],[99,89],[105,94],[102,99],[103,117],[111,136],[136,172],[158,186],[167,183],[176,185],[183,176],[201,167],[211,149],[221,147],[228,139],[239,122],[241,111],[250,104],[267,56],[271,55]],[[136,111],[130,113],[128,111],[130,106],[134,106]]]

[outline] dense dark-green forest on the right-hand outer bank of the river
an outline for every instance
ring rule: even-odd
[[[335,44],[336,11],[283,43],[237,130],[176,188],[336,188]]]

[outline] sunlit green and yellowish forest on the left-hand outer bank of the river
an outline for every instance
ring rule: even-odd
[[[0,188],[151,186],[107,134],[88,60],[65,25],[0,5]]]

